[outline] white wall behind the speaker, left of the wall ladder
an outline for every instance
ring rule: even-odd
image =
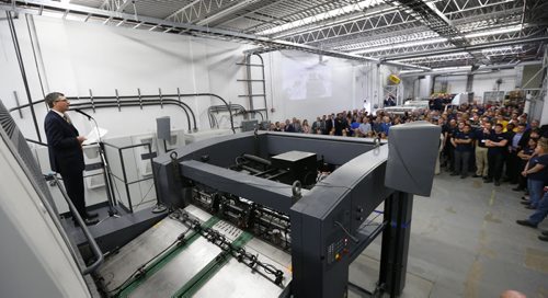
[[[119,95],[176,93],[215,93],[232,103],[243,103],[237,94],[243,94],[243,83],[237,83],[240,73],[236,61],[241,59],[247,46],[210,39],[158,34],[111,26],[35,18],[37,42],[44,60],[44,78],[49,91],[60,91],[68,96]],[[25,60],[26,74],[34,101],[43,99],[32,59],[32,48],[26,34],[24,18],[15,20],[18,37]],[[13,91],[20,103],[26,103],[13,44],[7,22],[0,22],[0,99],[8,107],[14,107]],[[209,129],[206,108],[222,102],[208,96],[183,100],[196,113],[198,128]],[[42,130],[45,105],[37,105],[36,113]],[[95,117],[100,126],[110,130],[109,136],[134,135],[156,130],[156,117],[171,116],[172,129],[187,129],[185,114],[174,107],[148,106],[99,110]],[[36,139],[31,124],[30,111],[23,111],[20,119],[23,134]],[[88,122],[72,113],[72,118],[81,134],[91,129]],[[42,133],[44,137],[44,134]]]

